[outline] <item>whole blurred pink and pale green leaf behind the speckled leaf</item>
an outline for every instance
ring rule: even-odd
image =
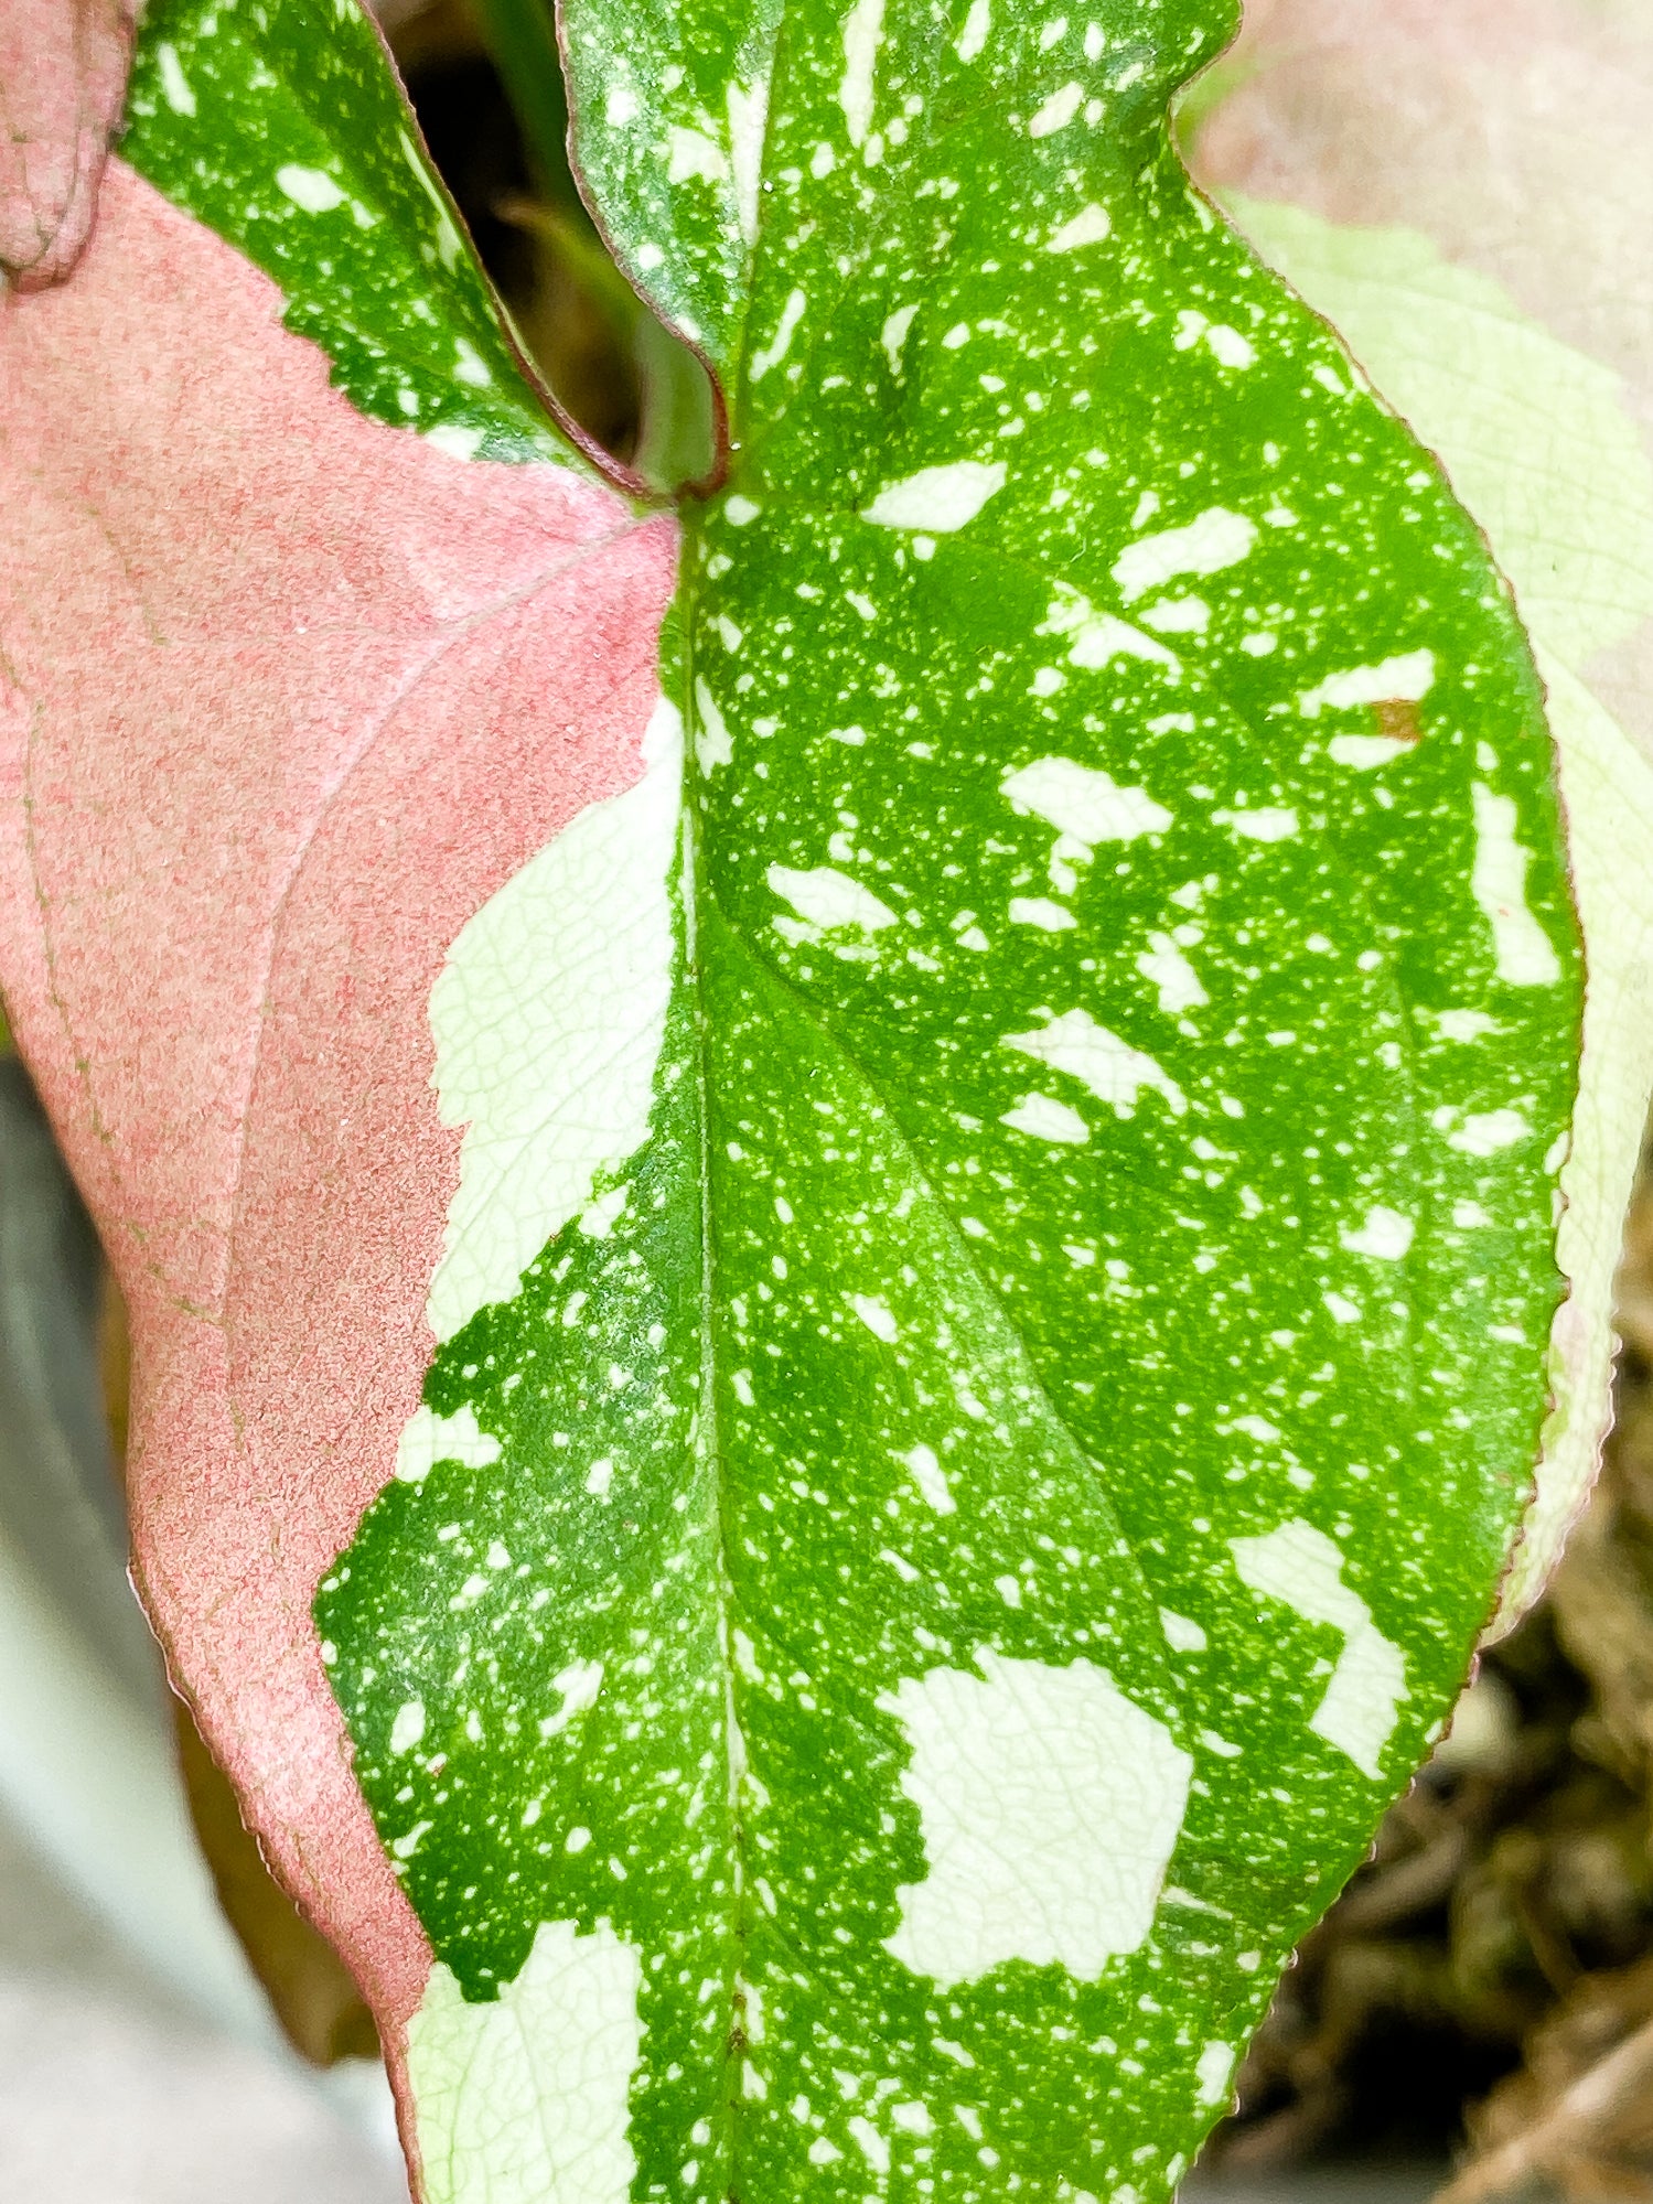
[[[1635,7],[1265,0],[1186,117],[1201,179],[1446,461],[1549,694],[1591,985],[1560,1175],[1574,1294],[1499,1629],[1596,1474],[1653,1084],[1649,99]]]

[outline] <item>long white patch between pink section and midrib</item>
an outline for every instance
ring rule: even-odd
[[[428,1318],[450,1340],[648,1135],[672,985],[683,723],[661,699],[637,787],[588,804],[494,895],[430,994],[434,1084],[465,1126]]]

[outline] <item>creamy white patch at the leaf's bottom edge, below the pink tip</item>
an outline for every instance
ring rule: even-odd
[[[472,2006],[436,1962],[408,2023],[425,2204],[628,2204],[641,1964],[599,1924],[542,1922],[522,1973]]]

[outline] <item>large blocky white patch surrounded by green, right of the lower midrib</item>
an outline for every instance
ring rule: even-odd
[[[879,1697],[928,1876],[897,1889],[895,1957],[943,1988],[1007,1959],[1095,1981],[1153,1924],[1195,1763],[1087,1660],[976,1653]]]

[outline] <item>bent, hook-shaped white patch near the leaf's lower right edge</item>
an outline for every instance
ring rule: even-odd
[[[1406,1655],[1384,1638],[1360,1593],[1344,1585],[1342,1554],[1300,1516],[1263,1538],[1230,1538],[1228,1549],[1239,1580],[1258,1600],[1278,1600],[1305,1622],[1342,1631],[1342,1653],[1309,1728],[1344,1752],[1362,1776],[1380,1781],[1384,1746],[1406,1697]]]

